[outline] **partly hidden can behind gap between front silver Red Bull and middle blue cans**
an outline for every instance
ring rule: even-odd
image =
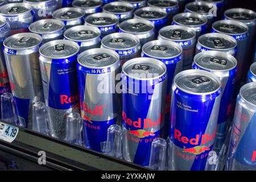
[[[141,56],[139,38],[133,34],[114,33],[101,40],[101,48],[112,49],[120,56],[121,65],[126,61]]]

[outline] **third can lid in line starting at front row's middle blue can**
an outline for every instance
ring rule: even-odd
[[[166,40],[174,40],[175,42],[192,40],[196,38],[196,32],[189,27],[170,25],[159,30],[159,36]]]

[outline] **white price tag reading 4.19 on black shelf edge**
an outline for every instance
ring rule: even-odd
[[[19,128],[0,122],[0,139],[5,142],[13,142],[17,137]]]

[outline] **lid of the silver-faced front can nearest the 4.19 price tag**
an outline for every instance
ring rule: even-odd
[[[20,33],[9,36],[7,39],[5,39],[3,45],[9,49],[20,50],[39,46],[41,42],[42,38],[38,34]]]

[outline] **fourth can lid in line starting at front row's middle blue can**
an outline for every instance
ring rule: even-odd
[[[180,13],[173,18],[174,22],[184,26],[203,26],[207,24],[207,18],[204,15],[195,13]]]

